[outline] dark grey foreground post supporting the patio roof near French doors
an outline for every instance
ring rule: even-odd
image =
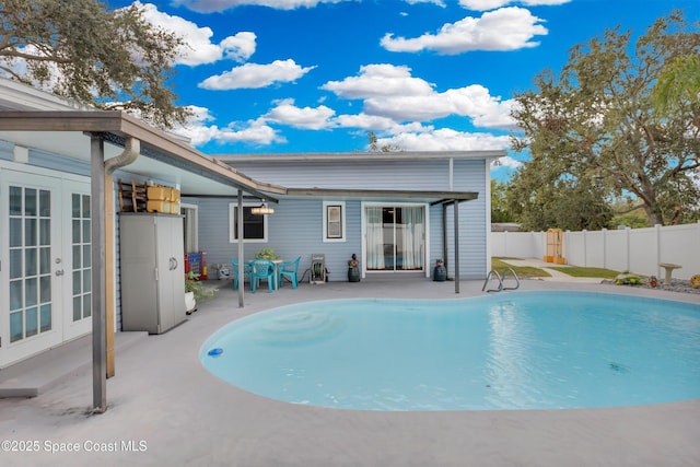
[[[105,143],[101,135],[90,137],[91,241],[92,241],[92,380],[93,412],[107,410],[105,330]]]

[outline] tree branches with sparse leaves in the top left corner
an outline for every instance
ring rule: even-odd
[[[101,109],[124,109],[156,126],[184,122],[170,81],[184,46],[143,16],[95,0],[4,0],[0,70],[26,84]]]

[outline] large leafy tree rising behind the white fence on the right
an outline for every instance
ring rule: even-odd
[[[595,187],[608,200],[634,198],[651,224],[669,222],[677,207],[697,215],[700,103],[661,113],[653,89],[678,57],[698,54],[698,23],[679,12],[657,20],[634,44],[618,27],[575,46],[559,75],[544,71],[536,89],[515,95],[513,117],[524,137],[513,148],[528,149],[532,162],[514,190],[536,199],[555,184]]]

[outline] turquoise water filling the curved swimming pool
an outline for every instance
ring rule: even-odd
[[[343,409],[658,404],[700,397],[700,305],[584,292],[308,302],[224,326],[200,360],[245,390]]]

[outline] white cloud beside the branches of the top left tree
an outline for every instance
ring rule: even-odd
[[[185,47],[176,63],[197,66],[213,63],[222,58],[245,61],[255,52],[256,36],[254,33],[241,32],[235,36],[224,38],[219,44],[213,44],[211,42],[213,32],[210,27],[199,27],[180,16],[163,13],[152,3],[142,4],[137,1],[135,4],[143,8],[143,16],[151,24],[171,31],[185,40]]]

